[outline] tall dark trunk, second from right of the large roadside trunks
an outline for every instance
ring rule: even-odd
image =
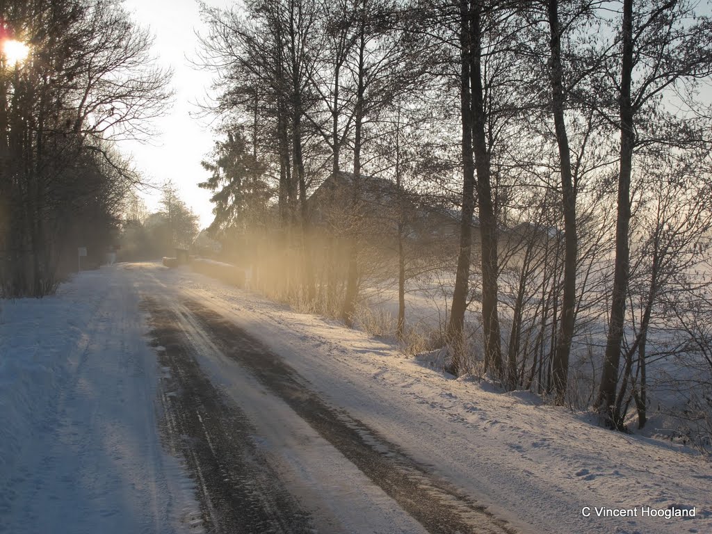
[[[558,14],[558,0],[549,1],[549,28],[551,50],[552,108],[556,141],[559,147],[562,211],[564,214],[564,281],[561,303],[561,321],[556,349],[552,362],[552,374],[556,404],[563,404],[567,390],[569,355],[574,335],[576,308],[576,256],[578,250],[576,235],[576,191],[571,173],[569,139],[564,120],[565,95],[563,88],[563,67],[561,63],[561,30]]]

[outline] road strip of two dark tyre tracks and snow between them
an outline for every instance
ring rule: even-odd
[[[513,532],[201,300],[164,293],[146,309],[168,437],[199,481],[206,530]]]

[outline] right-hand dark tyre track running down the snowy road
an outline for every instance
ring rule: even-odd
[[[514,533],[506,521],[429,472],[362,422],[330,407],[280,357],[195,300],[185,308],[226,356],[251,371],[431,534]]]

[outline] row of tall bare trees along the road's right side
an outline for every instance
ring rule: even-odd
[[[696,2],[250,0],[202,14],[231,132],[206,164],[214,231],[270,236],[263,257],[300,264],[287,290],[338,301],[351,323],[374,263],[365,213],[387,196],[367,182],[387,179],[402,334],[408,273],[445,254],[408,251],[427,231],[413,218],[454,209],[449,370],[466,371],[480,308],[491,375],[563,403],[585,347],[592,404],[622,427],[634,402],[644,424],[651,333],[712,314],[712,22]],[[317,224],[310,192],[345,169],[348,198]],[[656,356],[700,337],[674,350],[657,337]]]

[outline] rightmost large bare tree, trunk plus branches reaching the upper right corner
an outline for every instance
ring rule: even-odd
[[[659,114],[664,112],[659,100],[666,91],[712,73],[712,32],[708,18],[697,16],[689,23],[688,17],[694,11],[686,1],[634,4],[634,0],[622,1],[617,37],[620,52],[614,63],[619,75],[609,73],[610,80],[619,79],[614,85],[619,117],[612,119],[620,131],[616,259],[603,374],[595,405],[614,426],[617,425],[614,405],[630,273],[634,153],[637,147],[656,142],[661,147],[684,147],[690,141],[690,132],[684,127],[676,133],[670,132],[671,137],[661,139],[656,137],[656,129],[646,127],[646,123],[659,120]]]

